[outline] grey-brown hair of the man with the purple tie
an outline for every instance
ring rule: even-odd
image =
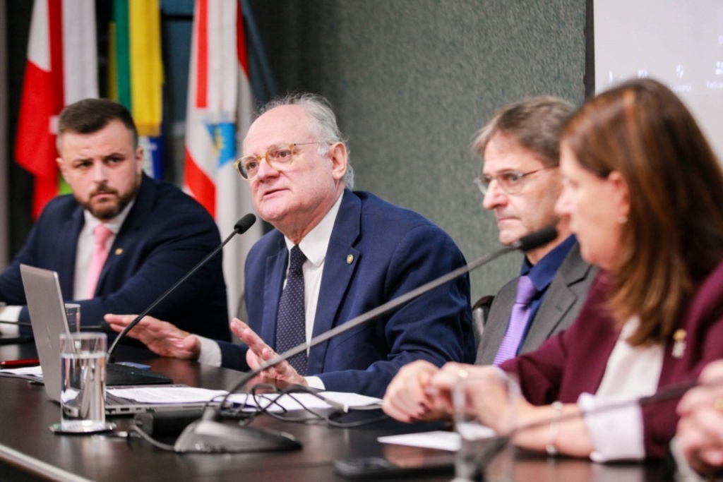
[[[502,132],[534,152],[544,165],[560,165],[560,131],[573,110],[567,100],[550,96],[510,104],[497,111],[476,134],[472,150],[484,159],[487,143]]]

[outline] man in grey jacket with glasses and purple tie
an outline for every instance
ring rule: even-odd
[[[483,160],[482,175],[474,181],[484,195],[482,206],[495,213],[500,242],[557,227],[557,238],[527,251],[520,276],[492,301],[477,340],[478,365],[500,365],[567,328],[594,278],[596,270],[581,258],[569,220],[555,213],[562,190],[560,128],[572,112],[573,106],[558,98],[523,100],[498,111],[474,140],[473,150]],[[426,393],[437,370],[424,361],[403,367],[388,387],[385,412],[401,421],[443,416]]]

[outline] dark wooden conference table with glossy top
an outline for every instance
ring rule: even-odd
[[[230,389],[239,372],[202,366],[149,352],[119,347],[119,360],[148,363],[174,382],[210,389]],[[35,356],[33,343],[0,346],[0,361]],[[304,445],[291,452],[249,454],[176,454],[153,447],[142,439],[112,436],[60,436],[48,429],[60,421],[60,408],[46,397],[44,388],[23,379],[0,376],[0,481],[234,481],[318,482],[343,481],[333,471],[334,460],[382,456],[393,460],[431,457],[436,451],[380,444],[377,437],[429,429],[425,424],[393,421],[354,429],[320,424],[291,423],[260,416],[252,426],[287,431]],[[378,412],[374,416],[379,415]],[[132,418],[114,418],[119,429]],[[233,423],[229,421],[228,423]],[[438,427],[434,427],[438,428]],[[451,475],[407,478],[450,481]],[[382,479],[376,478],[376,481]],[[395,479],[399,480],[399,479]],[[597,465],[586,460],[549,459],[518,454],[515,481],[660,481],[662,465]]]

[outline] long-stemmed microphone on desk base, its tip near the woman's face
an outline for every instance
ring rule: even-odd
[[[250,427],[244,426],[228,426],[218,422],[220,418],[220,410],[225,405],[228,395],[236,392],[239,387],[242,387],[254,376],[257,376],[265,369],[269,369],[281,361],[284,361],[297,353],[308,350],[313,346],[325,342],[331,337],[341,335],[341,333],[351,330],[354,327],[369,322],[369,320],[379,317],[381,314],[385,314],[398,306],[408,303],[409,301],[422,296],[424,293],[432,291],[444,283],[453,280],[455,277],[465,275],[466,273],[476,270],[479,267],[484,266],[491,262],[493,259],[497,259],[503,254],[507,254],[510,251],[521,249],[523,251],[529,251],[538,246],[543,246],[549,243],[557,236],[557,230],[554,227],[543,228],[534,233],[530,233],[527,236],[523,236],[518,241],[515,241],[510,246],[495,251],[492,254],[488,254],[482,258],[477,259],[475,262],[471,262],[462,267],[458,267],[456,270],[449,272],[446,275],[438,277],[436,280],[429,281],[408,293],[398,296],[393,300],[386,302],[377,308],[367,311],[364,314],[360,314],[349,320],[346,323],[340,324],[328,332],[318,335],[309,342],[301,343],[294,348],[286,350],[284,353],[278,354],[270,360],[262,363],[262,365],[255,370],[248,371],[241,380],[228,391],[226,397],[223,397],[221,403],[215,407],[206,408],[200,421],[191,423],[181,433],[181,436],[176,440],[174,445],[175,452],[205,452],[205,453],[235,453],[235,452],[257,452],[260,450],[281,450],[300,448],[299,442],[296,442],[293,436],[288,434],[276,433],[272,434],[268,431],[250,431]]]

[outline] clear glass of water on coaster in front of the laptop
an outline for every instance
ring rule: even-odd
[[[60,335],[62,432],[93,433],[106,424],[106,334]]]

